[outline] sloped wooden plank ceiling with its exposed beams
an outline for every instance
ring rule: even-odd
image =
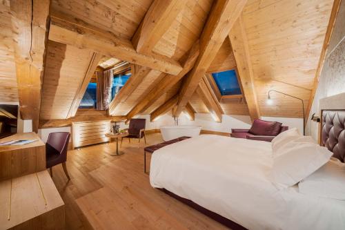
[[[21,100],[10,3],[0,6],[0,102]],[[40,119],[76,114],[95,61],[101,68],[128,61],[135,71],[110,106],[114,116],[157,114],[169,102],[175,114],[188,104],[196,113],[302,117],[288,97],[272,95],[275,104],[267,106],[267,93],[281,90],[308,106],[332,6],[332,0],[51,0]],[[200,83],[205,73],[233,69],[245,99],[220,100],[207,79]]]

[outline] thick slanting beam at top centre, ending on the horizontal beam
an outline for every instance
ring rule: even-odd
[[[132,37],[132,44],[137,52],[150,53],[186,3],[187,1],[181,0],[153,1]]]

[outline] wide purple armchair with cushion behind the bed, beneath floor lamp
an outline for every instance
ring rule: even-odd
[[[288,126],[282,126],[282,123],[255,119],[250,129],[231,128],[230,137],[271,142],[279,133],[287,130]]]

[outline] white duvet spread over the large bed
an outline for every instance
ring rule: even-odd
[[[152,154],[150,184],[248,229],[345,229],[345,202],[278,190],[269,142],[200,135]]]

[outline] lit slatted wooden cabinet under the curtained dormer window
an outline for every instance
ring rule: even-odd
[[[109,142],[110,138],[106,137],[106,133],[110,133],[110,121],[73,122],[73,147]]]

